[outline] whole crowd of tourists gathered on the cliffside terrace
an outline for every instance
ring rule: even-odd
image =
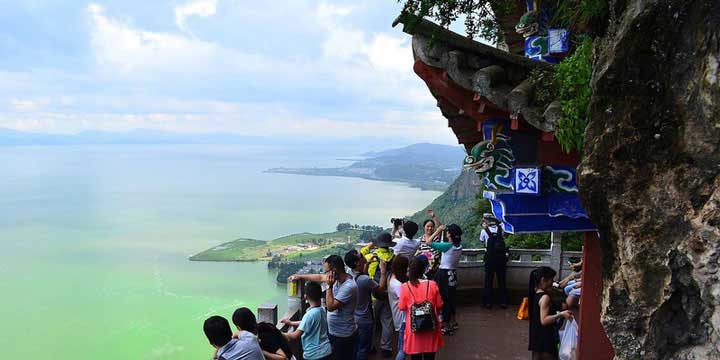
[[[422,225],[393,221],[384,232],[344,257],[323,261],[323,274],[297,274],[289,281],[304,280],[304,300],[309,308],[300,321],[282,319],[291,328],[280,332],[275,324],[257,323],[253,313],[240,308],[232,315],[236,331],[220,316],[205,321],[204,331],[216,349],[214,359],[294,359],[289,341],[300,340],[302,358],[365,360],[379,330],[379,352],[384,358],[434,359],[443,346],[443,335],[458,331],[456,318],[457,267],[462,254],[462,229],[443,225],[432,210]],[[395,219],[393,219],[395,220]],[[497,219],[483,219],[481,241],[486,243],[483,302],[492,307],[493,281],[497,278],[499,304],[505,308],[509,252]],[[532,272],[529,287],[530,344],[533,359],[556,359],[558,318],[572,318],[580,296],[579,266],[559,285],[567,292],[563,309],[557,308],[548,290],[555,271],[543,267]],[[562,311],[560,311],[562,310]],[[397,334],[397,351],[393,337]]]

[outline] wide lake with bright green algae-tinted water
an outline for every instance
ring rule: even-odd
[[[270,167],[358,152],[228,145],[0,148],[0,358],[202,359],[203,320],[286,307],[265,263],[190,262],[237,237],[386,225],[438,192]]]

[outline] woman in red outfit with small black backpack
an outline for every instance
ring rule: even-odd
[[[408,268],[409,281],[400,288],[398,308],[405,312],[405,354],[412,360],[433,360],[435,353],[443,345],[440,324],[437,322],[438,310],[442,307],[442,299],[437,284],[432,280],[421,280],[425,272],[425,263],[413,258]],[[429,301],[435,316],[435,328],[429,331],[412,331],[411,309],[413,304]]]

